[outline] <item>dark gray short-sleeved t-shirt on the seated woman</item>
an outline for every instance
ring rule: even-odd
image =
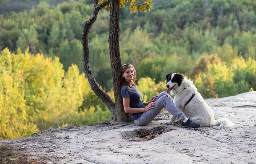
[[[143,105],[142,101],[142,94],[138,89],[133,86],[130,88],[129,86],[122,86],[121,89],[121,95],[122,98],[130,98],[130,108],[145,108],[146,106]],[[130,113],[131,119],[133,121],[137,120],[140,118],[140,116],[143,114],[143,112],[140,113]]]

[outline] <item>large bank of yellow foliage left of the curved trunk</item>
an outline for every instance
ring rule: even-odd
[[[57,57],[52,60],[19,49],[15,55],[4,49],[0,54],[0,139],[110,118],[111,113],[98,106],[84,77],[76,65],[65,73]],[[84,109],[84,98],[91,96],[96,104]]]

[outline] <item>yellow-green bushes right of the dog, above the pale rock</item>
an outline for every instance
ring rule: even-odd
[[[197,66],[196,66],[197,67]],[[195,86],[204,98],[218,98],[248,92],[256,87],[256,61],[241,56],[226,62],[208,63],[195,74]]]

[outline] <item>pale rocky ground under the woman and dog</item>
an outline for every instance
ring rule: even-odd
[[[236,127],[165,125],[172,115],[163,110],[145,127],[105,121],[1,140],[0,163],[256,164],[256,92],[205,101]]]

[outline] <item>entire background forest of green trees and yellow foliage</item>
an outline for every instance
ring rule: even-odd
[[[120,9],[121,60],[137,70],[143,101],[166,90],[168,72],[186,75],[203,98],[256,88],[256,1],[152,2],[146,13],[130,13],[129,4]],[[82,29],[93,0],[0,0],[2,8],[0,139],[111,118],[82,64]],[[114,99],[108,21],[102,10],[90,29],[90,65]]]

